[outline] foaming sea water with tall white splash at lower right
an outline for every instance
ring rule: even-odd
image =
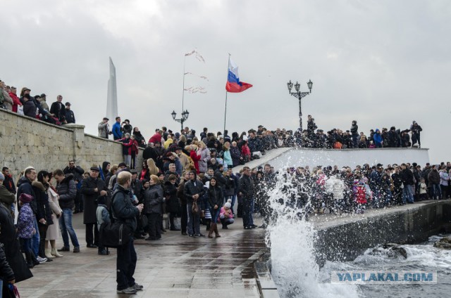
[[[273,280],[280,297],[450,297],[451,251],[433,247],[443,235],[429,238],[417,245],[402,245],[407,258],[393,256],[390,250],[369,247],[353,261],[326,261],[322,268],[316,263],[314,242],[318,235],[313,224],[299,209],[289,207],[287,183],[279,175],[270,191],[271,207],[276,221],[268,226],[266,242],[271,247]],[[297,190],[290,190],[297,191]],[[302,213],[302,211],[301,211]],[[433,285],[353,285],[332,284],[332,271],[436,271],[438,283]]]

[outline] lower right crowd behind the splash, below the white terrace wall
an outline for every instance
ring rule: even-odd
[[[451,198],[451,163],[439,165],[415,162],[369,164],[350,167],[290,167],[275,173],[266,164],[253,169],[257,186],[255,209],[264,217],[264,226],[277,217],[271,208],[269,189],[282,189],[282,205],[295,208],[299,216],[309,214],[364,213],[367,208],[413,204],[422,200]],[[278,200],[279,198],[273,198]],[[280,198],[282,199],[282,198]]]

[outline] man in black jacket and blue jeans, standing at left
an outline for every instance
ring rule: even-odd
[[[59,206],[63,210],[62,216],[59,218],[59,229],[63,236],[64,246],[58,252],[69,252],[69,236],[73,245],[73,252],[80,252],[80,244],[78,244],[77,234],[72,227],[72,209],[75,206],[74,200],[77,195],[77,186],[73,181],[73,174],[64,175],[61,169],[54,171],[54,178],[57,182],[56,191],[59,195]],[[68,235],[69,234],[69,235]]]

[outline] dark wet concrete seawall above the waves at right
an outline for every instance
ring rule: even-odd
[[[451,200],[372,209],[366,214],[316,216],[315,243],[319,264],[349,261],[379,244],[414,243],[439,233],[451,221]]]

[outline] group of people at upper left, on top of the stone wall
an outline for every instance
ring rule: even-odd
[[[56,101],[49,107],[45,93],[32,96],[30,92],[29,88],[23,87],[18,95],[16,87],[7,86],[0,80],[0,108],[51,124],[75,123],[70,103],[63,104],[63,96],[56,96]]]

